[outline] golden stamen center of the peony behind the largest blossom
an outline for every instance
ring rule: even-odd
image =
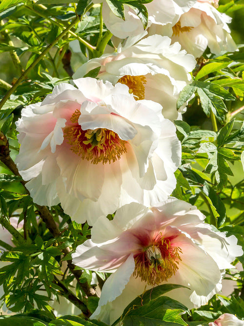
[[[129,87],[129,93],[132,93],[135,100],[144,100],[146,78],[145,76],[129,76],[125,75],[118,80],[118,83]]]

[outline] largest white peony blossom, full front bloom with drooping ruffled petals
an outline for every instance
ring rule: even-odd
[[[56,205],[90,225],[131,201],[153,205],[176,185],[181,144],[174,125],[152,101],[136,101],[127,86],[74,80],[16,123],[17,167],[34,202]]]

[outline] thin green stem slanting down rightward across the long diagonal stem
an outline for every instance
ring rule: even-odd
[[[49,18],[48,16],[46,16],[44,13],[43,13],[43,9],[44,10],[47,10],[47,8],[41,4],[35,4],[35,7],[38,7],[39,9],[41,9],[42,11],[38,11],[34,8],[34,5],[32,5],[32,7],[26,5],[25,6],[26,8],[28,8],[29,10],[31,10],[32,12],[34,12],[35,14],[41,16],[42,18],[46,19],[47,21],[51,22],[52,24],[60,27],[60,28],[64,28],[64,27],[68,27],[69,24],[66,23],[66,22],[63,22],[61,20],[59,20],[58,18],[55,18],[55,20],[53,20],[52,18]],[[81,42],[82,44],[85,45],[85,47],[87,47],[90,51],[94,51],[95,50],[95,46],[92,46],[90,43],[86,42],[85,40],[81,39],[80,36],[78,36],[76,33],[74,33],[72,30],[69,31],[69,34],[72,35],[74,38],[76,38],[79,42]]]

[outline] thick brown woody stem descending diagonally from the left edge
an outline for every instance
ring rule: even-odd
[[[8,169],[15,175],[21,176],[16,164],[12,160],[12,158],[9,155],[9,145],[8,145],[8,140],[6,136],[0,131],[0,161],[4,163]],[[24,186],[26,193],[30,195],[28,189],[25,187],[26,181],[21,179],[21,184]],[[51,232],[51,234],[54,237],[59,237],[60,236],[60,230],[52,216],[52,214],[49,212],[46,206],[40,206],[38,204],[35,204],[39,215],[43,222],[46,224],[48,230]],[[4,225],[3,225],[4,226]],[[18,232],[18,231],[17,231]],[[22,238],[23,239],[23,238]],[[17,239],[18,240],[18,239]],[[24,239],[23,239],[24,241]],[[67,247],[62,250],[63,255],[66,256],[67,254],[70,253],[70,249]],[[75,276],[77,282],[80,284],[81,288],[85,292],[86,296],[96,296],[95,290],[93,288],[90,288],[88,283],[81,283],[80,277],[82,274],[81,270],[75,270],[75,265],[72,263],[72,260],[67,261],[68,267],[71,271],[71,273]]]

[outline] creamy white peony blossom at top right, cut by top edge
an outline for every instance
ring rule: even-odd
[[[237,49],[227,23],[231,18],[220,13],[218,0],[198,0],[189,11],[184,13],[176,24],[172,24],[172,42],[179,42],[182,48],[200,57],[207,46],[216,55],[222,52],[233,52]],[[149,33],[168,35],[164,27],[157,26]],[[170,36],[170,35],[169,35]]]

